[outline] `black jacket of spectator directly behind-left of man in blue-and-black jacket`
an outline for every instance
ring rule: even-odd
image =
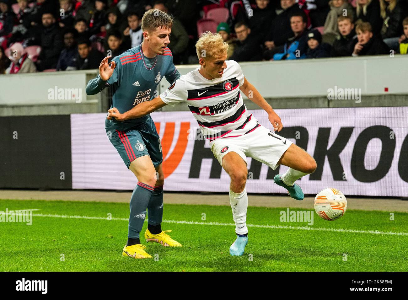
[[[273,41],[275,47],[282,46],[286,41],[293,37],[293,31],[290,28],[290,16],[293,13],[301,13],[302,9],[299,8],[297,3],[279,14],[273,21],[272,28],[266,35],[266,41]]]

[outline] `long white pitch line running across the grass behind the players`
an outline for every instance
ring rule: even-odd
[[[89,216],[70,216],[70,215],[55,215],[35,213],[35,217],[50,217],[50,218],[67,218],[67,219],[86,219],[86,220],[108,220],[107,217],[89,217]],[[111,218],[116,221],[129,221],[128,218]],[[145,220],[146,221],[146,220]],[[219,222],[194,222],[194,221],[177,221],[177,220],[163,220],[163,223],[173,224],[191,224],[191,225],[210,225],[210,226],[235,226],[233,223],[219,223]],[[270,229],[295,229],[295,230],[311,230],[311,231],[331,231],[331,232],[347,232],[347,233],[364,233],[364,234],[381,234],[385,236],[408,236],[408,232],[392,232],[379,230],[354,230],[354,229],[336,229],[324,227],[306,227],[306,226],[288,226],[288,225],[258,225],[246,224],[248,227],[254,228],[270,228]]]

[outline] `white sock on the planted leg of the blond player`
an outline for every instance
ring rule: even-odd
[[[246,210],[248,209],[246,189],[239,194],[230,189],[230,203],[235,222],[235,232],[238,234],[248,233],[248,227],[246,227]]]

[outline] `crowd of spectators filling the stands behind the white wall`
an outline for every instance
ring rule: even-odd
[[[174,17],[175,64],[197,63],[194,44],[208,29],[239,62],[408,49],[408,0],[0,0],[0,74],[98,69],[142,42],[151,8]],[[227,11],[222,22],[214,11]]]

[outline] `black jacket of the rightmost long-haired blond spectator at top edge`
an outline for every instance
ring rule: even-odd
[[[381,16],[383,17],[383,25],[381,28],[381,37],[384,38],[395,38],[402,34],[402,20],[407,14],[402,9],[401,5],[397,1],[394,9],[390,11],[389,2],[380,0],[381,4]]]

